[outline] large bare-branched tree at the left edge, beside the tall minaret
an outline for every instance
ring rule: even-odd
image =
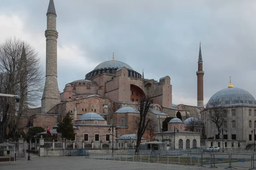
[[[9,38],[0,44],[0,93],[17,94],[14,98],[0,97],[0,142],[9,127],[15,138],[21,113],[38,105],[43,90],[43,69],[38,53],[26,42]]]

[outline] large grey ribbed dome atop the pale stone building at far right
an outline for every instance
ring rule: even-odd
[[[256,105],[256,100],[253,95],[241,88],[225,88],[212,95],[207,106],[211,103],[217,105]]]

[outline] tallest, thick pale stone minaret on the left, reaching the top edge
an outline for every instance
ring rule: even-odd
[[[47,113],[61,102],[57,82],[57,38],[56,11],[53,0],[50,0],[47,11],[46,37],[46,75],[44,94],[41,100],[41,113]]]

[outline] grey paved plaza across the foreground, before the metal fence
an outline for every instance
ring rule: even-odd
[[[37,157],[32,156],[18,159],[13,164],[0,162],[0,170],[207,170],[209,166],[198,167],[191,165],[145,163],[132,161],[109,161],[87,159],[85,156],[66,157]],[[225,170],[224,167],[214,168],[215,170]],[[248,170],[248,168],[238,168]]]

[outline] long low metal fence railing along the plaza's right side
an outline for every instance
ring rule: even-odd
[[[186,164],[209,167],[256,169],[256,154],[239,153],[188,153],[183,156],[160,156],[143,154],[88,154],[89,159],[139,161],[166,164]]]

